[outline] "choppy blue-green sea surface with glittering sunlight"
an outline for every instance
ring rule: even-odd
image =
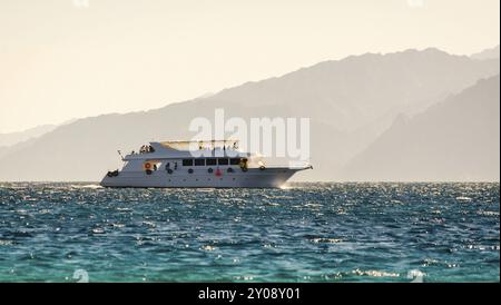
[[[0,184],[0,282],[499,282],[499,184]]]

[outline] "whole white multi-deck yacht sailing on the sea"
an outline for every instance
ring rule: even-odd
[[[267,166],[263,157],[238,150],[238,141],[150,142],[122,157],[121,170],[108,171],[104,187],[276,188],[299,170]]]

